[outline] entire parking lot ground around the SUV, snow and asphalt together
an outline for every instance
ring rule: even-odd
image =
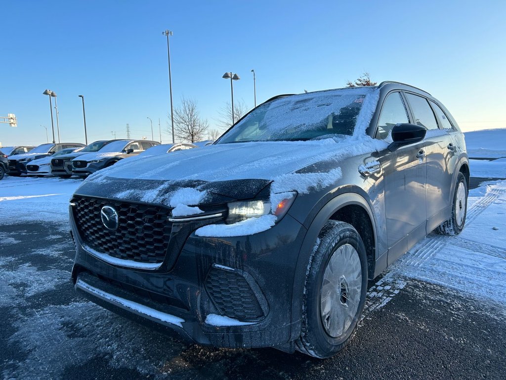
[[[472,189],[461,235],[429,235],[369,282],[357,336],[327,360],[186,344],[81,298],[66,221],[79,183],[0,182],[3,378],[503,378],[506,181]]]

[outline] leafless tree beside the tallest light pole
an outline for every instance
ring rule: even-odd
[[[168,115],[170,118],[170,115]],[[195,99],[181,99],[181,104],[174,108],[174,134],[181,141],[195,142],[202,140],[207,132],[207,120],[200,117]],[[172,127],[168,125],[169,132]]]

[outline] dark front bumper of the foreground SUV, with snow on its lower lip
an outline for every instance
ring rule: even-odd
[[[286,349],[299,336],[300,321],[291,320],[292,289],[306,230],[289,215],[268,231],[232,238],[197,237],[197,225],[175,223],[173,231],[183,236],[171,240],[180,240],[181,248],[171,252],[171,246],[167,259],[151,270],[99,258],[70,215],[72,280],[99,305],[201,345]]]

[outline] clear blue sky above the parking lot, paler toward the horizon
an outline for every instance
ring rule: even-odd
[[[197,100],[214,127],[234,100],[253,106],[280,93],[343,87],[364,71],[440,99],[464,130],[506,127],[506,2],[4,1],[0,23],[0,124],[5,145],[46,142],[45,89],[58,94],[63,141],[157,139],[170,119],[166,39],[173,30],[174,104]],[[444,4],[443,4],[444,3]],[[53,104],[54,106],[54,104]],[[56,129],[56,120],[55,120]],[[162,133],[164,142],[170,135]]]

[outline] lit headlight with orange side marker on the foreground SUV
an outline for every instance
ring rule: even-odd
[[[249,218],[259,218],[263,215],[275,215],[280,220],[295,200],[297,193],[283,193],[276,197],[277,204],[272,206],[267,200],[239,201],[228,204],[227,224],[237,223]]]

